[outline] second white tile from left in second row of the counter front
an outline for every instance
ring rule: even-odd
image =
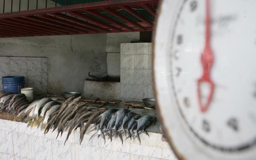
[[[32,159],[33,136],[13,132],[14,155]]]

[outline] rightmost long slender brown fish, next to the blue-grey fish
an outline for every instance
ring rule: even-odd
[[[94,121],[98,121],[97,117],[98,117],[101,113],[105,112],[105,110],[106,110],[106,109],[103,108],[103,109],[100,109],[100,110],[97,111],[97,112],[94,112],[94,113],[91,115],[91,117],[89,118],[89,120],[86,122],[85,126],[83,126],[82,128],[80,128],[80,144],[82,143],[82,140],[84,139],[84,135],[85,135],[85,133],[86,133],[86,131],[87,131],[89,125],[90,125],[91,123],[93,123]]]

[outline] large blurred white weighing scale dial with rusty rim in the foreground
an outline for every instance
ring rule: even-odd
[[[162,0],[153,75],[180,159],[256,158],[256,0]]]

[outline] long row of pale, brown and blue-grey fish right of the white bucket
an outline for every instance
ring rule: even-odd
[[[43,98],[20,110],[15,120],[26,121],[27,126],[40,127],[45,134],[50,129],[57,130],[57,137],[67,131],[66,141],[72,131],[80,128],[80,143],[92,123],[95,125],[90,131],[97,130],[97,132],[91,138],[98,135],[105,141],[105,135],[111,140],[115,136],[120,137],[123,143],[123,135],[126,135],[126,138],[130,139],[132,136],[137,137],[140,142],[139,134],[149,135],[145,129],[157,120],[156,117],[149,115],[141,117],[128,109],[117,110],[91,106],[80,102],[80,99],[81,97],[71,97],[60,104],[50,98]]]

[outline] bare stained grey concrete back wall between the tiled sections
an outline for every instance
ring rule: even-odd
[[[48,91],[83,91],[91,74],[107,72],[107,34],[0,39],[0,56],[47,57]]]

